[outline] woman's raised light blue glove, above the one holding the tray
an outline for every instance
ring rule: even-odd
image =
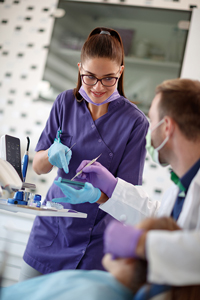
[[[69,173],[69,162],[72,151],[59,140],[55,139],[48,151],[49,162],[60,169],[64,169],[65,173]]]

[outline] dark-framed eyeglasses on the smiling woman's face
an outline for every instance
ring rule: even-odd
[[[81,68],[83,69],[83,67],[81,67]],[[119,71],[117,73],[120,72],[120,69],[121,69],[121,67],[119,68]],[[87,71],[85,71],[85,72],[87,72]],[[115,73],[115,74],[117,74],[117,73]],[[99,79],[94,75],[85,75],[85,74],[81,75],[82,81],[86,85],[90,85],[90,86],[93,86],[93,85],[97,84],[98,81],[100,81],[103,86],[111,87],[116,84],[118,78],[119,77],[109,77],[108,76],[108,77],[103,77],[103,78]]]

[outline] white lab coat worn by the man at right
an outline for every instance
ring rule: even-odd
[[[151,201],[141,186],[119,178],[112,197],[100,208],[134,225],[146,217],[170,216],[177,194],[178,187],[172,184],[160,204]],[[190,184],[177,223],[186,231],[148,233],[148,280],[173,285],[200,284],[200,170]],[[192,229],[195,231],[188,231]]]

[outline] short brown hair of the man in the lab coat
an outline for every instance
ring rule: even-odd
[[[190,79],[166,80],[156,87],[161,94],[160,119],[171,117],[188,140],[200,139],[200,82]]]

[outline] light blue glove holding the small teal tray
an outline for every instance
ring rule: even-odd
[[[62,183],[61,180],[62,178],[59,177],[57,181],[54,181],[54,183],[62,190],[66,197],[55,198],[52,200],[53,202],[66,202],[71,204],[85,202],[94,203],[101,197],[101,191],[98,188],[93,187],[91,183],[86,182],[82,189],[76,190],[68,186],[66,183]]]

